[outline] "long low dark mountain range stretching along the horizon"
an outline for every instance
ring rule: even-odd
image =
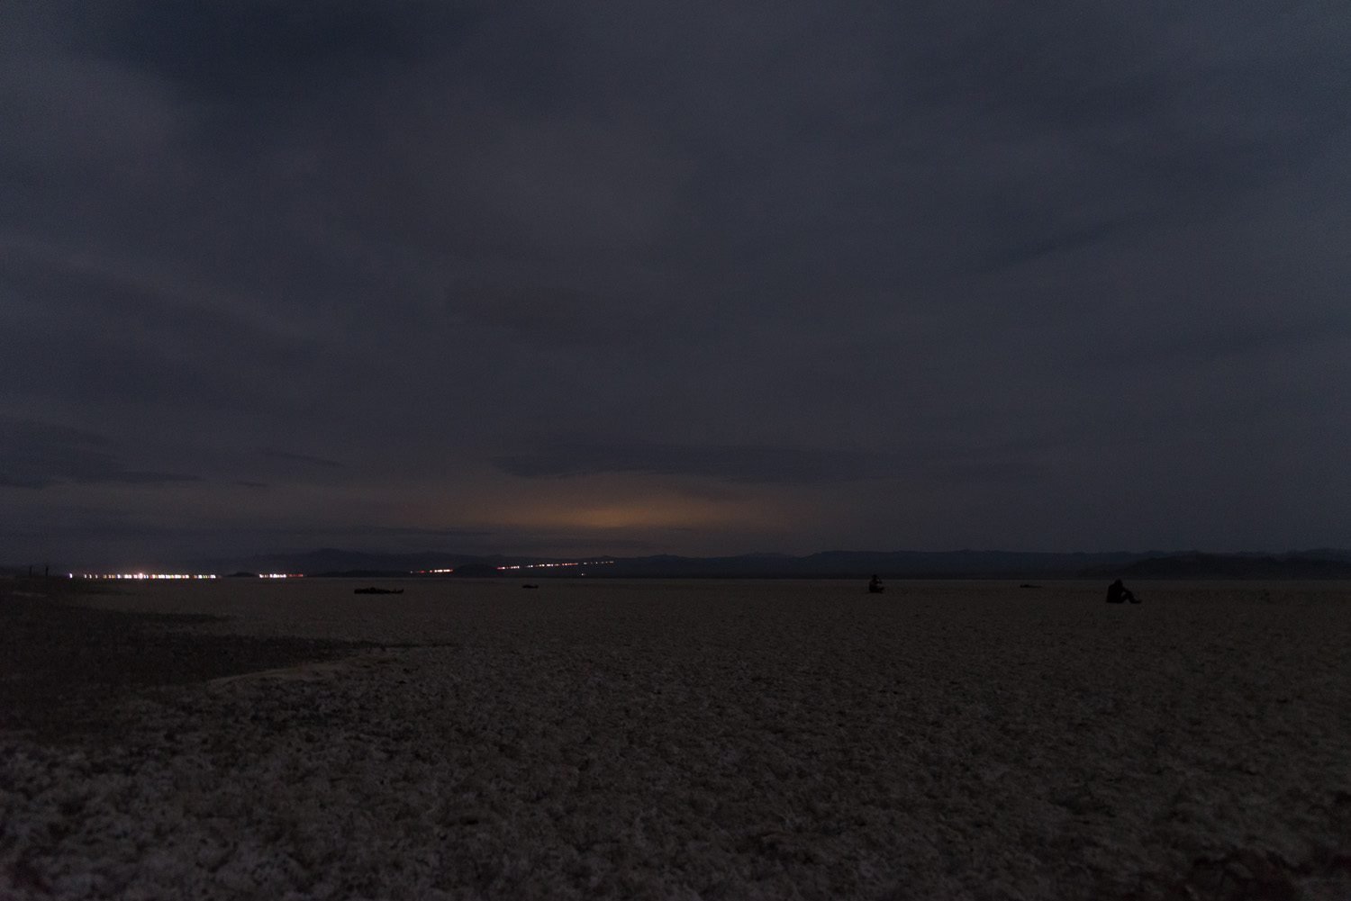
[[[536,565],[536,577],[607,578],[1351,578],[1351,551],[1317,548],[1285,554],[1202,554],[1198,551],[1115,551],[1052,554],[1023,551],[823,551],[805,557],[743,554],[738,557],[603,557],[593,566],[581,558],[526,558],[469,554],[370,554],[322,548],[303,554],[193,561],[185,570],[213,573],[304,573],[307,575],[409,575],[455,569],[462,575],[523,574],[500,566]]]

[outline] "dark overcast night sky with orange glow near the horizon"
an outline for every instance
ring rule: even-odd
[[[1348,9],[0,0],[0,544],[1351,546]]]

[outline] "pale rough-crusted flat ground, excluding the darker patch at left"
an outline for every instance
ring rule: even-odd
[[[76,598],[384,647],[0,732],[0,897],[1351,897],[1351,585],[358,585]]]

